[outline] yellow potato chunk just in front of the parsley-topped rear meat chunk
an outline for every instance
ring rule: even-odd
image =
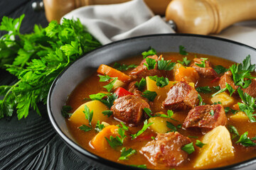
[[[174,84],[176,84],[177,81],[169,81],[169,84],[167,86],[164,87],[159,87],[156,86],[156,81],[150,79],[149,77],[146,77],[146,88],[148,91],[156,91],[156,94],[158,96],[163,96],[164,98],[166,98],[166,94],[168,93],[168,91],[170,90],[171,86],[174,86]],[[195,84],[193,83],[188,83],[190,86],[195,86]]]

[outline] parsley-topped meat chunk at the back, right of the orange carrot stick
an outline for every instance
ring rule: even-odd
[[[142,77],[148,77],[148,76],[163,76],[163,72],[161,72],[159,69],[157,69],[157,61],[160,60],[157,55],[149,56],[148,58],[156,60],[156,66],[154,69],[147,69],[144,63],[146,62],[146,58],[142,60],[142,62],[139,64],[138,67],[133,69],[130,73],[129,76],[132,77],[133,79],[141,79]]]

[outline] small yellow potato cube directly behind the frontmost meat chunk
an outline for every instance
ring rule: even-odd
[[[154,132],[166,133],[170,130],[166,126],[167,125],[166,121],[168,120],[169,120],[168,118],[161,118],[161,117],[149,118],[149,123],[153,123],[149,128]]]

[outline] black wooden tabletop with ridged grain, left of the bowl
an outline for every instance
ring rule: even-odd
[[[0,18],[18,18],[25,13],[21,33],[31,33],[34,24],[48,26],[44,11],[33,11],[36,0],[1,0]],[[4,32],[0,32],[0,36]],[[9,85],[15,77],[0,69],[0,85]],[[94,167],[80,159],[60,139],[50,125],[46,106],[39,105],[42,116],[30,111],[26,119],[0,120],[0,169],[87,169]]]

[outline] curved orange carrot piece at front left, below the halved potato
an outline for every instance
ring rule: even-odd
[[[90,141],[90,144],[95,148],[95,150],[97,150],[97,152],[105,152],[108,147],[108,143],[105,137],[110,138],[111,135],[116,137],[118,135],[117,130],[118,127],[116,125],[107,126],[97,135],[95,135],[95,137],[93,137],[93,139]]]

